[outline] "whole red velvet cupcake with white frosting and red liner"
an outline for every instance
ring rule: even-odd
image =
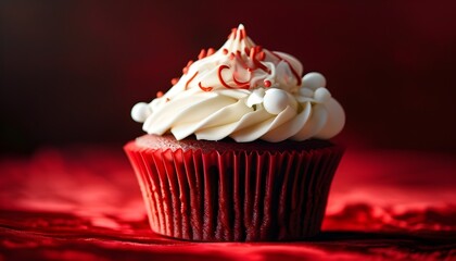
[[[125,145],[153,232],[198,241],[318,234],[345,115],[319,73],[255,45],[242,25],[131,110]]]

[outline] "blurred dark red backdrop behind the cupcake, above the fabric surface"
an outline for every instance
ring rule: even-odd
[[[118,144],[130,109],[167,90],[202,48],[250,37],[318,71],[343,104],[337,139],[456,149],[454,1],[0,2],[0,151]]]

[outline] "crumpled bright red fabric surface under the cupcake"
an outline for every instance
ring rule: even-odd
[[[0,260],[456,260],[454,153],[349,149],[322,233],[202,244],[153,234],[119,148],[0,159]]]

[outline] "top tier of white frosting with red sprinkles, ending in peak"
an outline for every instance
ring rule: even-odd
[[[175,85],[183,89],[254,89],[280,87],[296,90],[303,67],[293,57],[255,45],[244,26],[232,28],[225,45],[215,51],[202,49],[198,61],[189,61]]]

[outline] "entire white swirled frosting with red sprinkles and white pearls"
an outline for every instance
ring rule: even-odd
[[[294,57],[255,45],[239,25],[220,49],[189,61],[166,94],[137,103],[131,117],[148,134],[170,132],[177,140],[329,139],[342,129],[344,111],[321,74],[302,75]]]

